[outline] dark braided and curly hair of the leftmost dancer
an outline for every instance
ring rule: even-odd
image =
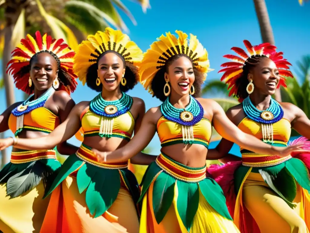
[[[29,61],[29,65],[27,66],[24,66],[20,69],[20,71],[18,71],[16,73],[16,75],[20,75],[20,77],[23,77],[25,74],[29,73],[30,70],[31,70],[31,64],[33,63],[34,59],[38,56],[38,54],[40,53],[48,53],[50,54],[52,57],[54,57],[54,59],[56,60],[57,62],[57,66],[58,66],[58,80],[59,82],[64,85],[64,86],[67,86],[69,85],[69,81],[71,79],[70,75],[62,70],[60,68],[60,61],[59,61],[59,58],[55,55],[55,53],[51,52],[51,51],[48,51],[48,50],[42,50],[36,54],[34,54],[31,58],[30,58],[30,61]],[[32,85],[31,87],[29,87],[31,89],[31,91],[34,91],[34,85]]]

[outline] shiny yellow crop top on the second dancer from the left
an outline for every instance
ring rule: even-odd
[[[83,136],[77,136],[77,139],[82,141],[82,137],[90,137],[99,135],[101,121],[108,119],[109,117],[101,117],[97,114],[91,112],[89,107],[87,107],[81,114],[81,124],[80,133]],[[135,128],[135,119],[128,111],[118,117],[113,118],[113,129],[111,137],[123,138],[130,140]]]

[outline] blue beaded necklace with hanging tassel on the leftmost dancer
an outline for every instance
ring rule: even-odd
[[[55,92],[55,89],[53,87],[50,87],[47,89],[46,92],[44,92],[39,98],[30,101],[31,98],[33,98],[34,94],[29,96],[28,99],[26,99],[22,104],[15,107],[12,110],[12,114],[17,117],[16,120],[16,132],[15,136],[17,136],[24,127],[24,114],[31,112],[32,110],[43,107],[47,99]]]

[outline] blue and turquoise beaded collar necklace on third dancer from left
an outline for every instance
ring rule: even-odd
[[[204,114],[201,104],[190,96],[189,103],[185,108],[176,108],[167,98],[160,106],[160,111],[167,120],[182,125],[183,143],[193,144],[193,125],[201,121]]]

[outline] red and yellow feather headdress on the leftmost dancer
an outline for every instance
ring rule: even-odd
[[[23,72],[29,65],[30,59],[33,55],[47,51],[54,53],[59,59],[59,68],[62,72],[68,74],[64,75],[66,80],[61,80],[58,77],[60,85],[58,90],[65,90],[70,94],[76,89],[77,75],[73,72],[73,57],[75,52],[69,48],[69,45],[64,43],[63,39],[52,39],[50,35],[37,31],[34,39],[31,35],[27,35],[26,39],[21,39],[20,44],[12,52],[12,59],[7,63],[7,73],[13,75],[15,85],[18,89],[27,94],[33,93],[33,88],[28,85],[29,72]],[[57,61],[58,63],[58,61]],[[63,75],[62,75],[63,76]],[[63,76],[63,77],[64,77]]]

